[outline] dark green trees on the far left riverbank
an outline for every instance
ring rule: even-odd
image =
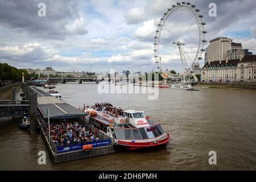
[[[12,67],[7,63],[0,63],[0,80],[13,80],[14,82],[22,81],[22,72],[25,80],[30,78],[27,71]]]

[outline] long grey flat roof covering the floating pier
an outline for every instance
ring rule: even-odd
[[[43,90],[36,88],[35,86],[31,86],[31,89],[38,93],[38,108],[43,114],[44,118],[48,118],[48,108],[50,119],[68,119],[88,115],[83,111],[76,109],[76,107],[73,107],[64,101],[58,100]]]

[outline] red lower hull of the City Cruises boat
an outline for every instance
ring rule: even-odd
[[[168,142],[170,141],[171,137],[169,134],[167,134],[167,137],[162,139],[162,140],[158,140],[157,142],[123,142],[123,141],[118,141],[119,146],[122,146],[124,148],[126,148],[127,150],[136,150],[139,148],[147,148],[147,147],[156,147],[156,146],[160,146],[163,144],[168,144]]]

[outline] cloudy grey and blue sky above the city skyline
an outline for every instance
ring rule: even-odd
[[[46,4],[46,17],[38,4]],[[157,70],[155,30],[171,0],[0,0],[0,61],[18,68],[106,72]],[[190,1],[207,40],[228,36],[256,53],[255,0]],[[208,15],[209,3],[217,17]],[[203,64],[201,64],[203,65]],[[180,71],[177,66],[174,69]]]

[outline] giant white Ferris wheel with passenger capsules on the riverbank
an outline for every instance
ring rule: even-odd
[[[204,44],[207,42],[203,15],[199,13],[195,5],[178,2],[160,19],[155,35],[154,57],[163,78],[195,77],[193,65],[203,59]],[[180,68],[180,73],[171,72],[174,67]]]

